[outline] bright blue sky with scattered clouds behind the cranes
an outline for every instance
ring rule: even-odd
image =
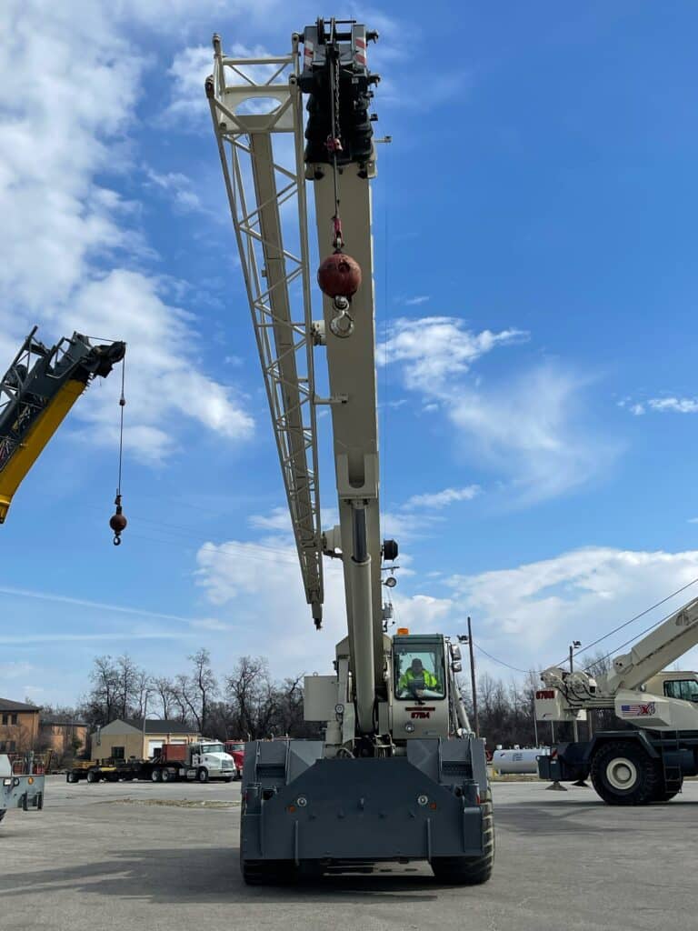
[[[220,673],[245,653],[277,675],[323,671],[342,636],[336,567],[316,634],[278,510],[203,94],[214,31],[238,53],[285,52],[318,10],[203,6],[0,11],[0,367],[35,322],[47,342],[129,344],[124,545],[107,527],[112,377],[0,530],[0,695],[71,702],[96,654],[175,673],[202,645]],[[547,665],[698,576],[698,12],[336,12],[381,33],[377,127],[393,137],[373,196],[397,618],[457,633],[472,614],[490,654]],[[331,511],[326,454],[321,483]]]

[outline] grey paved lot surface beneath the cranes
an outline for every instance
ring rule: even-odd
[[[666,805],[611,808],[593,789],[497,783],[489,884],[451,888],[424,864],[281,888],[237,865],[239,783],[67,785],[0,826],[3,931],[221,927],[478,931],[698,927],[698,783]]]

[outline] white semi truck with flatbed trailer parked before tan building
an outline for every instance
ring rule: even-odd
[[[163,744],[149,760],[105,759],[74,766],[66,772],[66,781],[85,779],[93,783],[146,779],[151,782],[188,780],[206,783],[211,779],[232,782],[237,775],[235,760],[225,752],[221,741],[202,739],[194,744]]]

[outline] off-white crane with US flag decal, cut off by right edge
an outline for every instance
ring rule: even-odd
[[[698,599],[685,604],[613,659],[596,678],[589,672],[550,667],[535,695],[540,721],[576,721],[584,712],[610,708],[632,729],[599,731],[586,741],[559,744],[538,758],[539,775],[554,782],[591,776],[609,804],[668,802],[684,776],[698,775],[698,677],[668,672],[698,643]]]

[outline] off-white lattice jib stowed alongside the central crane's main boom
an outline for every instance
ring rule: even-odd
[[[215,68],[207,96],[248,291],[276,448],[305,598],[322,622],[323,571],[317,481],[315,372],[307,207],[303,179],[298,37],[290,55],[224,56],[213,37]],[[258,101],[278,106],[260,114]],[[251,111],[251,112],[250,112]],[[282,155],[274,147],[281,145]],[[285,243],[282,210],[296,216]],[[288,225],[288,224],[287,224]]]

